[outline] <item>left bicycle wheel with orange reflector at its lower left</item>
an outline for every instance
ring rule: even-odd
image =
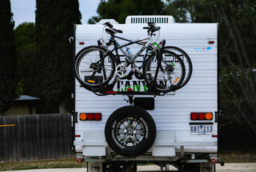
[[[87,90],[102,88],[113,78],[115,73],[116,60],[113,54],[106,56],[100,64],[100,56],[107,50],[96,46],[84,47],[76,55],[73,63],[74,74],[79,83]],[[109,68],[107,70],[106,63]],[[111,71],[111,72],[108,72]],[[108,75],[106,74],[108,72]]]

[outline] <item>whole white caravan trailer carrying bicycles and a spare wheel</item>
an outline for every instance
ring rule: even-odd
[[[118,36],[129,40],[138,40],[147,36],[147,31],[143,30],[143,27],[147,26],[148,21],[155,22],[161,27],[159,40],[165,39],[166,46],[172,45],[185,51],[192,61],[193,72],[186,86],[156,97],[153,95],[127,97],[127,95],[111,93],[99,96],[81,87],[73,77],[72,126],[77,162],[88,162],[88,171],[97,172],[136,171],[137,163],[148,162],[158,164],[166,171],[169,164],[180,171],[215,171],[217,162],[223,164],[217,157],[218,24],[179,24],[173,22],[172,16],[129,16],[125,24],[118,24],[115,20],[108,19],[98,24],[75,25],[72,40],[73,58],[84,47],[98,45],[99,38],[108,41],[102,25],[106,21],[111,22],[115,29],[123,31],[122,34],[118,33]],[[118,43],[127,42],[118,40]],[[141,48],[136,44],[129,47],[133,52]],[[136,63],[140,63],[140,59]],[[118,81],[113,88],[114,92],[127,91],[127,89],[143,92],[147,90],[147,86],[145,81],[132,77],[129,80]],[[113,142],[106,141],[104,132],[109,116],[120,107],[128,106],[128,109],[124,108],[120,113],[129,111],[129,102],[131,106],[145,109],[156,125],[156,139],[148,150],[141,152],[136,148],[130,149],[131,152],[140,152],[140,155],[135,153],[136,156],[122,156],[122,152],[112,150],[113,145],[109,144],[116,144],[120,148],[124,145],[115,138]],[[212,118],[207,120],[204,116],[206,113],[212,114]],[[204,117],[200,120],[197,115],[201,114]],[[93,120],[94,118],[97,120]],[[109,136],[111,137],[111,134]],[[143,144],[145,145],[140,146],[142,149],[148,146],[147,143]]]

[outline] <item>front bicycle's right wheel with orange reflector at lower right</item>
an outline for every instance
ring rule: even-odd
[[[182,59],[174,52],[163,50],[163,58],[161,60],[155,89],[161,93],[178,90],[186,73]],[[150,87],[152,82],[154,82],[154,76],[156,74],[152,74],[156,73],[156,68],[157,57],[156,53],[154,53],[146,59],[145,65],[143,66],[143,77],[148,87]]]

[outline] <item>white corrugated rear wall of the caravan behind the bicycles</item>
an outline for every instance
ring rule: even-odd
[[[129,40],[147,36],[142,27],[145,24],[114,24],[115,29],[124,33],[118,34]],[[155,109],[148,111],[156,122],[157,130],[173,130],[177,143],[184,143],[185,152],[216,152],[217,138],[211,135],[189,135],[191,112],[218,111],[217,100],[217,24],[158,24],[161,26],[159,40],[165,39],[166,46],[180,47],[188,53],[193,63],[193,74],[186,86],[163,97],[155,98]],[[102,25],[77,25],[76,53],[88,45],[97,45],[102,38]],[[103,35],[104,37],[104,35]],[[214,41],[209,44],[209,41]],[[84,45],[79,45],[84,42]],[[118,43],[125,43],[118,40]],[[130,45],[133,52],[140,46]],[[208,51],[205,49],[208,48]],[[122,53],[120,53],[122,54]],[[132,85],[132,82],[130,82]],[[143,91],[143,82],[141,91]],[[120,88],[124,88],[125,81]],[[131,86],[131,88],[133,88]],[[141,97],[141,96],[134,96]],[[150,96],[149,96],[150,97]],[[79,86],[76,81],[76,111],[78,113],[102,113],[101,121],[79,121],[76,132],[81,130],[104,130],[108,116],[122,106],[127,96],[108,95],[99,97]],[[211,122],[214,122],[215,117]],[[217,123],[214,123],[214,134],[217,135]],[[197,143],[196,143],[197,142]],[[198,145],[199,142],[199,145]],[[201,142],[201,144],[200,144]],[[196,144],[195,144],[196,143]],[[189,146],[190,145],[190,146]],[[179,148],[177,146],[177,148]],[[178,150],[179,151],[179,150]]]

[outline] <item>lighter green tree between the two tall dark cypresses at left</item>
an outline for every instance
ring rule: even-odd
[[[35,24],[24,22],[14,30],[17,59],[19,65],[19,94],[38,97],[40,91],[36,81],[35,67]]]

